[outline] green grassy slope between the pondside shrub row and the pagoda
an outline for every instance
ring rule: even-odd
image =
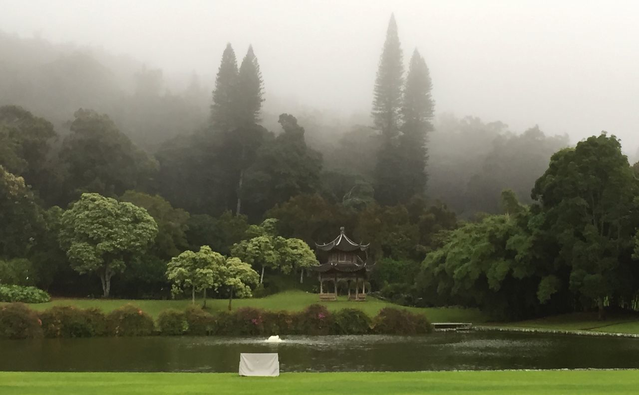
[[[31,308],[35,310],[44,310],[52,306],[77,306],[77,307],[98,307],[105,312],[112,311],[127,303],[135,304],[142,311],[157,317],[160,311],[166,309],[184,309],[189,306],[190,300],[122,300],[122,299],[55,299],[48,303],[31,304]],[[201,302],[200,302],[201,303]],[[267,310],[288,310],[300,311],[310,304],[319,303],[318,295],[314,293],[306,293],[303,291],[286,291],[270,295],[265,298],[249,298],[233,300],[233,309],[240,307],[258,307]],[[337,302],[321,302],[328,309],[335,311],[344,308],[362,309],[370,316],[376,315],[382,307],[401,307],[376,298],[368,298],[366,302],[348,302],[346,297],[341,297]],[[207,306],[212,311],[220,311],[227,308],[228,300],[209,299]],[[433,322],[444,321],[464,321],[481,323],[486,321],[484,314],[477,309],[463,309],[459,307],[442,307],[417,309],[413,307],[402,307],[415,312],[424,312],[429,320]]]

